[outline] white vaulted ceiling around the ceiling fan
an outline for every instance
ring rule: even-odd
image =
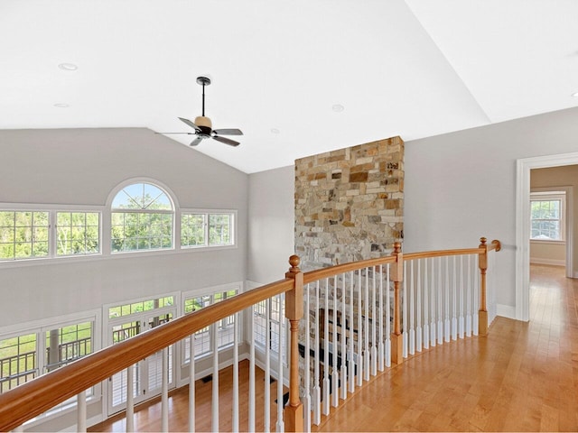
[[[0,0],[0,41],[0,129],[189,132],[208,75],[247,173],[578,106],[575,0]]]

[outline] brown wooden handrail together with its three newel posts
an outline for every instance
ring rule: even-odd
[[[31,382],[17,386],[10,392],[0,394],[0,431],[17,428],[28,419],[33,419],[61,403],[61,401],[66,401],[70,397],[85,391],[89,387],[98,384],[98,382],[106,380],[115,373],[123,371],[147,356],[154,355],[164,347],[191,336],[198,330],[243,309],[247,309],[262,300],[270,299],[284,292],[287,292],[285,316],[290,321],[291,334],[290,401],[285,408],[286,430],[300,431],[303,428],[303,408],[299,400],[297,338],[298,323],[303,317],[303,284],[331,278],[346,272],[358,271],[359,269],[387,263],[393,264],[391,281],[394,282],[395,291],[395,322],[394,332],[391,336],[392,360],[396,363],[401,363],[403,354],[400,326],[400,288],[404,278],[404,262],[442,256],[478,254],[481,298],[480,335],[483,336],[487,333],[488,328],[488,313],[486,310],[488,252],[491,250],[499,251],[500,249],[501,244],[498,240],[487,244],[486,238],[483,237],[480,238],[480,246],[478,248],[437,250],[422,253],[402,253],[401,244],[396,243],[394,252],[390,256],[343,263],[311,272],[301,272],[299,269],[299,257],[294,255],[289,260],[291,268],[285,274],[284,280],[266,284],[233,298],[224,299],[219,303],[212,304],[181,318],[175,318],[143,334],[129,338],[117,345],[101,349],[51,373],[43,374]]]

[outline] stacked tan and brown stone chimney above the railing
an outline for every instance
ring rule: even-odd
[[[295,253],[301,269],[380,257],[403,238],[400,137],[295,161]]]

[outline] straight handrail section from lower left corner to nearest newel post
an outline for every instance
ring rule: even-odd
[[[175,318],[0,394],[0,431],[21,426],[28,419],[33,419],[145,357],[154,355],[164,347],[191,336],[203,327],[293,288],[294,280],[287,278],[249,290]]]

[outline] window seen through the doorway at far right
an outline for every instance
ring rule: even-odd
[[[565,192],[546,191],[530,194],[530,239],[564,241]]]

